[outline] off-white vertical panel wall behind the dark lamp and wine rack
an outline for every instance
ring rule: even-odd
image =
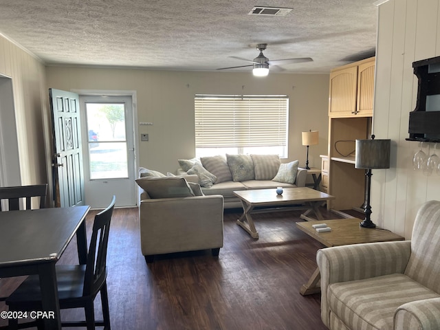
[[[407,239],[421,204],[440,199],[440,176],[412,170],[418,145],[405,140],[417,99],[412,62],[440,55],[439,17],[439,0],[391,0],[379,8],[375,134],[393,144],[391,168],[373,181],[373,219],[382,221],[375,216],[384,214],[384,228]],[[375,214],[377,206],[380,211]]]

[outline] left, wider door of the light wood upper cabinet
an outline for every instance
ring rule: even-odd
[[[329,116],[351,117],[356,112],[358,67],[347,67],[331,72]]]

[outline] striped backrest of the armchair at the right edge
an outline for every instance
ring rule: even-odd
[[[415,217],[405,274],[440,294],[440,201],[428,201]]]

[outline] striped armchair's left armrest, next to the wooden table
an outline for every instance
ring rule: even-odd
[[[329,326],[327,289],[331,283],[403,274],[410,259],[410,241],[336,246],[316,252],[321,275],[321,318]]]

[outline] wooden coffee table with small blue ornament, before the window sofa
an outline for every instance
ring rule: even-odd
[[[234,195],[239,197],[243,206],[243,214],[236,223],[254,239],[259,238],[259,233],[256,232],[251,214],[287,209],[306,210],[301,214],[301,219],[307,221],[322,220],[319,206],[322,202],[335,198],[325,192],[305,187],[283,188],[283,195],[277,195],[276,188],[239,190],[234,191]],[[309,217],[310,212],[314,212],[317,219]]]

